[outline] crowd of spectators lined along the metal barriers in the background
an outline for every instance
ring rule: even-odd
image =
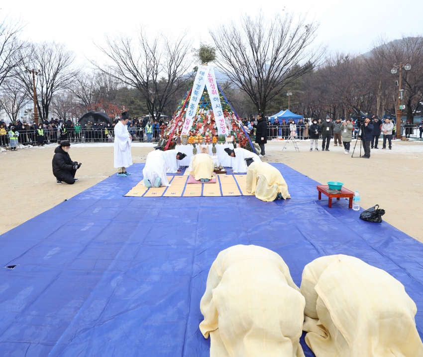
[[[329,150],[331,139],[334,146],[344,146],[345,153],[349,153],[350,142],[357,139],[359,132],[359,124],[356,119],[337,118],[330,119],[329,116],[322,121],[321,119],[288,119],[288,120],[264,120],[266,123],[261,124],[261,128],[265,127],[267,139],[280,138],[288,139],[294,136],[297,140],[310,139],[311,147],[315,143],[315,150],[318,150],[317,142],[322,140],[322,150]],[[63,120],[61,118],[40,121],[27,122],[25,120],[17,120],[6,124],[0,120],[0,146],[10,146],[12,150],[16,150],[18,144],[38,145],[42,146],[46,143],[56,143],[60,140],[69,140],[70,142],[112,142],[114,134],[114,126],[118,119],[112,122],[102,121],[84,121],[82,123],[74,123],[72,120]],[[243,119],[242,123],[252,139],[255,137],[255,128],[257,120],[255,116],[251,119]],[[263,124],[266,124],[264,126]],[[392,119],[378,119],[373,116],[370,124],[372,125],[370,147],[378,149],[379,137],[383,135],[383,148],[388,144],[389,149],[392,147],[392,140],[395,140],[396,124]],[[157,142],[163,137],[164,132],[169,125],[168,118],[150,120],[146,117],[129,118],[127,123],[129,133],[134,140],[142,142]],[[262,130],[262,129],[261,129]],[[406,137],[414,132],[414,128],[404,125],[401,121],[402,134]],[[420,138],[423,133],[423,120],[418,125],[418,135]],[[262,135],[262,133],[260,134]]]

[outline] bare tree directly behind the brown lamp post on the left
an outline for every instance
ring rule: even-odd
[[[74,54],[65,46],[56,42],[31,44],[27,49],[24,64],[29,69],[41,70],[36,77],[37,107],[40,119],[48,119],[50,105],[54,94],[69,88],[72,80],[79,73],[73,68]],[[25,85],[28,96],[33,96],[32,77],[24,72],[17,72]]]

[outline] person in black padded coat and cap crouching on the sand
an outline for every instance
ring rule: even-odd
[[[71,144],[68,140],[61,141],[60,145],[54,149],[53,156],[53,175],[56,177],[56,183],[66,182],[73,185],[78,179],[75,178],[76,170],[81,167],[81,163],[72,161],[69,156]]]

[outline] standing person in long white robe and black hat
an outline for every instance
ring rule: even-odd
[[[114,126],[114,167],[117,168],[117,176],[120,177],[129,176],[130,173],[126,172],[126,168],[132,165],[132,136],[126,125],[128,120],[128,114],[123,112],[119,122]]]

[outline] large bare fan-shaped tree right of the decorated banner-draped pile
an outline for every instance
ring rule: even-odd
[[[241,25],[230,23],[211,31],[217,48],[217,65],[230,81],[253,101],[257,111],[284,88],[313,70],[323,50],[311,49],[317,23],[279,14],[266,19],[244,16]]]

